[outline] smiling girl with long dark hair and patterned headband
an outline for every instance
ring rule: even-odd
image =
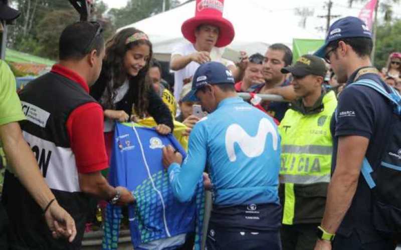
[[[153,90],[147,73],[151,58],[152,44],[147,35],[136,28],[122,29],[106,43],[102,71],[91,87],[91,95],[104,109],[108,154],[113,120],[123,122],[128,121],[131,115],[143,118],[149,114],[157,122],[156,130],[160,134],[167,134],[173,129],[171,113]]]

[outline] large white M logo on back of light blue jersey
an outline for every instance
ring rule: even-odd
[[[239,124],[231,124],[226,131],[226,150],[230,161],[237,160],[234,144],[237,142],[241,150],[248,157],[257,157],[265,150],[268,133],[272,134],[273,149],[277,150],[278,133],[273,123],[267,118],[262,118],[259,122],[258,133],[250,136]]]

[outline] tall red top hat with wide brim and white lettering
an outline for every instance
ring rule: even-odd
[[[184,21],[181,26],[183,36],[195,43],[195,29],[200,24],[218,26],[219,38],[216,47],[230,44],[235,35],[233,24],[223,17],[224,0],[196,0],[195,16]]]

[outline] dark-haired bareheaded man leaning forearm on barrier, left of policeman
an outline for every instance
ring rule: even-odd
[[[289,47],[282,43],[275,43],[269,46],[263,63],[263,76],[265,84],[255,90],[256,93],[279,94],[285,99],[294,100],[296,94],[292,86],[289,86],[291,79],[280,70],[291,64],[292,52]],[[277,120],[284,117],[288,109],[287,102],[265,101],[263,108]]]

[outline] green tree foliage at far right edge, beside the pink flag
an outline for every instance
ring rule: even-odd
[[[376,51],[374,65],[381,69],[385,67],[388,55],[394,51],[401,51],[401,20],[392,23],[386,22],[377,26]]]

